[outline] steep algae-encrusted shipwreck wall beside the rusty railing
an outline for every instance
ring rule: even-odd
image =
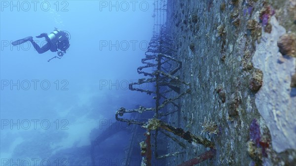
[[[175,75],[191,85],[179,114],[168,122],[215,142],[216,155],[200,166],[296,165],[295,38],[278,42],[296,33],[295,5],[295,0],[167,2],[167,29],[182,62]],[[283,55],[282,45],[292,55]],[[169,140],[169,152],[185,153],[168,158],[168,166],[208,150],[180,141],[185,149]]]

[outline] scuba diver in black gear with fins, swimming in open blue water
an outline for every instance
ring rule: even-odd
[[[36,49],[36,51],[39,54],[42,54],[48,50],[50,50],[51,52],[57,52],[58,51],[58,56],[55,56],[51,59],[48,60],[48,62],[54,58],[59,58],[61,59],[63,57],[64,54],[66,54],[66,50],[70,47],[70,33],[68,33],[67,31],[60,31],[57,28],[55,28],[55,30],[52,33],[49,33],[47,35],[47,33],[41,33],[40,35],[36,36],[37,38],[42,38],[45,37],[46,40],[46,44],[43,45],[42,47],[40,47],[34,40],[32,36],[28,36],[19,40],[16,40],[14,42],[12,42],[12,45],[19,45],[22,43],[25,43],[27,41],[30,41],[34,48]]]

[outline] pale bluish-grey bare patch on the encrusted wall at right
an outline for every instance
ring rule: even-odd
[[[271,135],[272,149],[277,153],[296,147],[296,102],[291,96],[291,74],[295,73],[296,58],[285,58],[283,63],[278,59],[283,57],[277,47],[280,36],[286,33],[275,16],[270,18],[271,33],[263,33],[262,40],[266,43],[264,49],[256,49],[252,58],[253,66],[259,68],[264,75],[264,89],[256,93],[257,109],[266,122]],[[260,44],[256,44],[257,48]],[[289,118],[287,118],[289,117]],[[285,125],[283,125],[285,124]],[[283,143],[285,142],[285,143]]]

